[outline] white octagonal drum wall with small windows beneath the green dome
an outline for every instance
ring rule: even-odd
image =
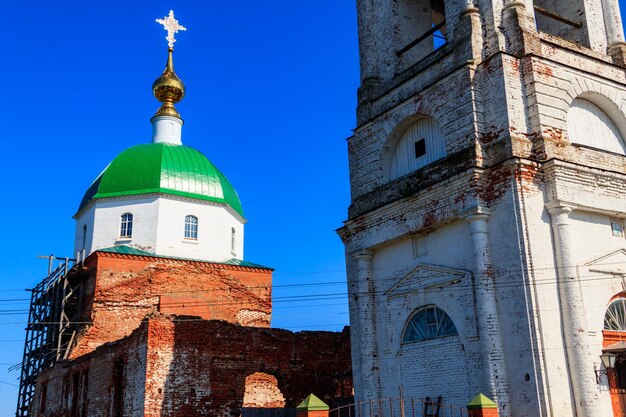
[[[133,215],[131,238],[119,236],[124,213]],[[198,218],[197,239],[185,239],[187,215]],[[128,245],[162,256],[217,262],[243,259],[244,220],[222,204],[164,195],[95,200],[76,217],[77,254],[83,250],[84,225],[85,255],[97,249]]]

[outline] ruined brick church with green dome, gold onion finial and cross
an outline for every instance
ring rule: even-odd
[[[16,415],[289,416],[311,393],[349,401],[347,328],[270,328],[273,269],[244,258],[237,192],[183,145],[173,52],[185,28],[173,12],[157,22],[169,48],[152,140],[95,177],[74,216],[76,258],[32,290]]]

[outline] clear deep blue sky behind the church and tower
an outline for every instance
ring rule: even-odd
[[[21,361],[24,290],[46,271],[37,256],[72,255],[72,215],[91,181],[119,152],[150,141],[151,85],[167,48],[154,19],[170,9],[188,28],[175,52],[187,87],[177,105],[183,141],[237,189],[246,258],[276,268],[273,325],[348,323],[334,230],[349,204],[354,0],[5,2],[0,415],[15,411],[19,372],[8,368]],[[303,295],[312,299],[284,298]]]

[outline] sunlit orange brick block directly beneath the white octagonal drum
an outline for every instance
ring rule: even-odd
[[[95,252],[86,266],[84,321],[71,357],[118,340],[154,312],[269,327],[272,271]]]

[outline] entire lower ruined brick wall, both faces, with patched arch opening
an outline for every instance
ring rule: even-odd
[[[88,383],[73,385],[75,375],[88,375]],[[84,401],[75,403],[74,392]],[[328,404],[351,398],[348,329],[293,333],[157,315],[41,374],[33,415],[109,417],[118,407],[127,417],[236,416],[244,402],[295,407],[310,393]]]

